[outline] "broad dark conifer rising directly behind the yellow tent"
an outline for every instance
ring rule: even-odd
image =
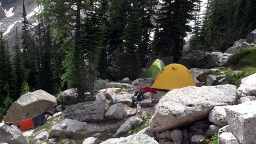
[[[193,19],[197,0],[163,0],[157,16],[157,31],[154,36],[155,55],[181,57],[183,38],[191,31],[188,25]]]

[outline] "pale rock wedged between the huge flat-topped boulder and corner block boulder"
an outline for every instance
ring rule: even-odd
[[[216,106],[209,113],[209,121],[218,126],[224,127],[227,124],[227,115],[225,108],[232,106]]]

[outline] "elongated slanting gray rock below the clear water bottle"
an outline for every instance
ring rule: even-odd
[[[137,117],[131,117],[127,121],[125,121],[124,124],[119,127],[118,130],[116,130],[116,133],[113,134],[113,138],[118,138],[122,134],[125,134],[126,132],[130,131],[132,128],[140,126],[142,124],[142,119]]]

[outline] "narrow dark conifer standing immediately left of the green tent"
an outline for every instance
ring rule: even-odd
[[[116,78],[129,77],[138,78],[140,74],[140,53],[138,46],[141,44],[142,37],[142,16],[140,15],[140,5],[137,0],[132,1],[131,13],[128,17],[127,25],[122,37],[123,50],[119,52],[117,58],[118,73]]]

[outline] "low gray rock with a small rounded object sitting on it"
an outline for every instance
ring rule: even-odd
[[[62,123],[66,123],[67,124],[67,128],[61,128],[61,124]],[[81,121],[76,121],[76,120],[72,120],[72,119],[64,119],[63,121],[61,121],[58,124],[55,124],[52,126],[51,132],[52,132],[52,137],[54,136],[59,136],[61,133],[64,132],[71,132],[71,133],[75,133],[78,130],[82,130],[84,128],[86,128],[87,123],[86,122],[81,122]]]

